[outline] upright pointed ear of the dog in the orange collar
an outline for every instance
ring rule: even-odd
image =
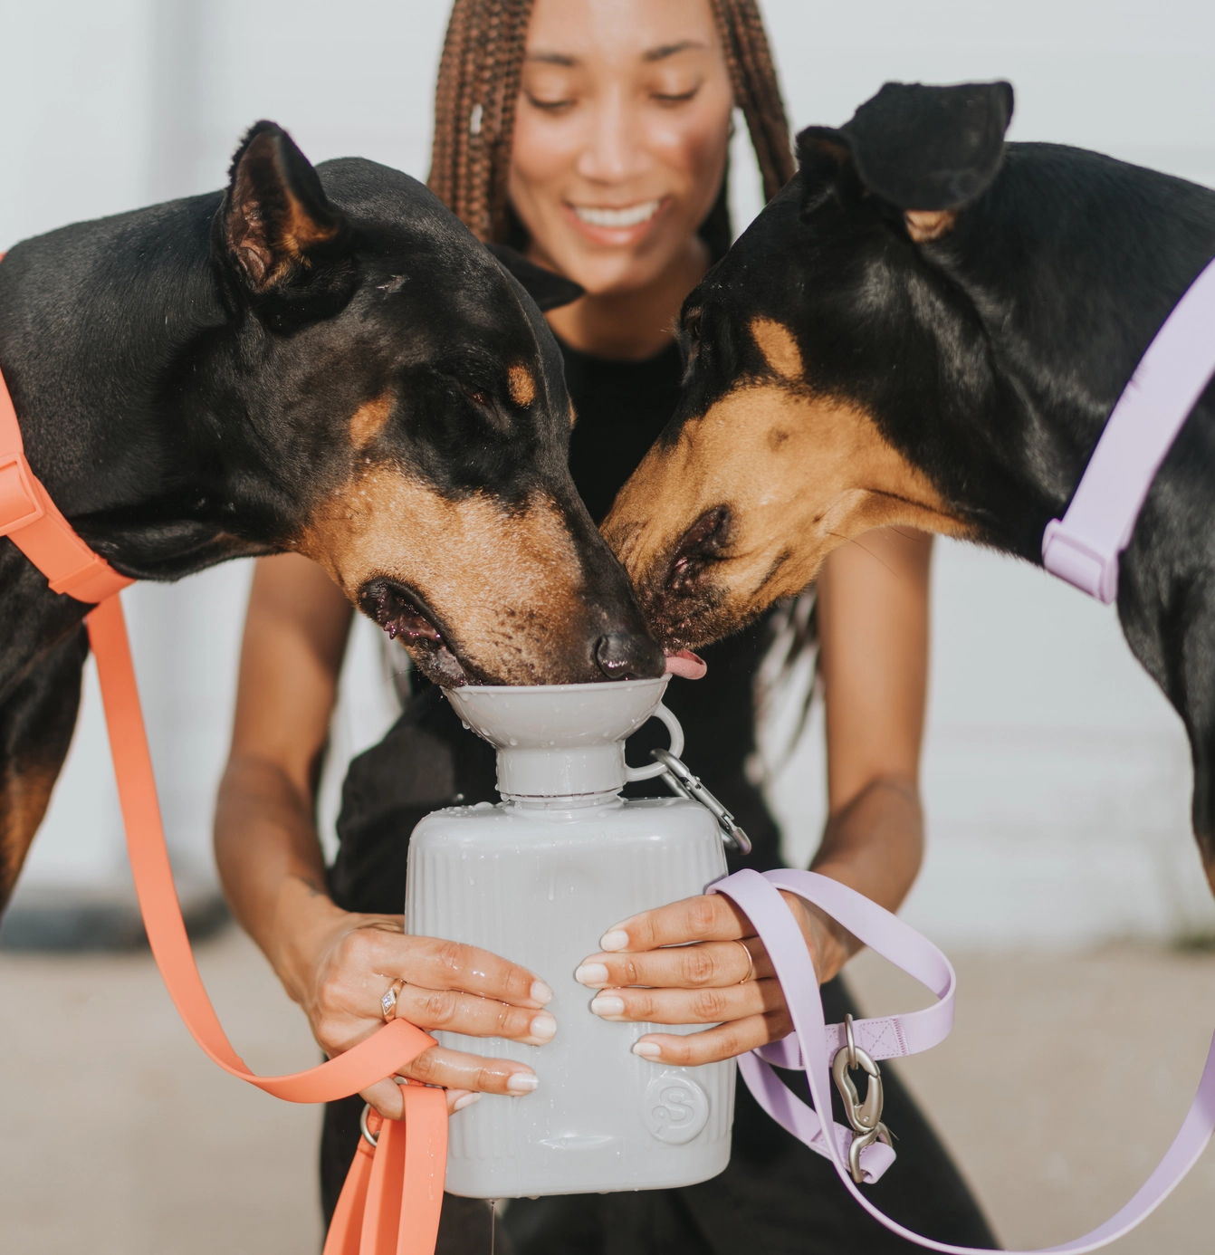
[[[316,171],[274,122],[257,122],[241,141],[220,231],[228,256],[254,292],[284,292],[350,243],[345,216],[330,205]]]

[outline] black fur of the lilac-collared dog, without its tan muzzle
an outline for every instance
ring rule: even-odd
[[[977,540],[1041,563],[1127,379],[1215,255],[1215,192],[993,142],[1010,105],[1007,84],[887,84],[848,125],[803,132],[798,174],[688,299],[687,390],[664,441],[768,371],[747,328],[774,319],[811,390],[871,414]],[[916,243],[906,210],[958,212]],[[1156,477],[1118,582],[1131,649],[1189,730],[1194,825],[1215,868],[1212,505],[1215,384]]]

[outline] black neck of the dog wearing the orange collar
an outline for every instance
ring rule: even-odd
[[[171,579],[240,552],[208,517],[222,481],[200,423],[200,354],[230,339],[211,260],[218,193],[67,227],[0,266],[0,368],[34,472],[126,574]],[[222,351],[222,350],[221,350]]]

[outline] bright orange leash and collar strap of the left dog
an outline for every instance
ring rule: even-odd
[[[0,259],[3,259],[0,254]],[[139,910],[152,955],[178,1014],[225,1072],[287,1102],[333,1102],[367,1089],[434,1045],[405,1020],[393,1020],[345,1054],[306,1072],[259,1077],[232,1049],[198,975],[182,920],[156,796],[119,575],[75,535],[25,459],[21,430],[0,374],[0,536],[9,536],[56,592],[100,604],[87,617],[97,659],[118,798]],[[403,1121],[368,1118],[374,1151],[360,1140],[325,1255],[433,1255],[447,1166],[447,1099],[442,1089],[407,1083]],[[378,1132],[377,1132],[378,1131]]]

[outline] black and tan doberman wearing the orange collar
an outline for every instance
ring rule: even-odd
[[[226,191],[25,241],[0,370],[34,473],[124,575],[320,562],[447,685],[661,675],[566,468],[540,304],[426,187],[274,123]],[[75,723],[88,607],[0,540],[0,905]]]

